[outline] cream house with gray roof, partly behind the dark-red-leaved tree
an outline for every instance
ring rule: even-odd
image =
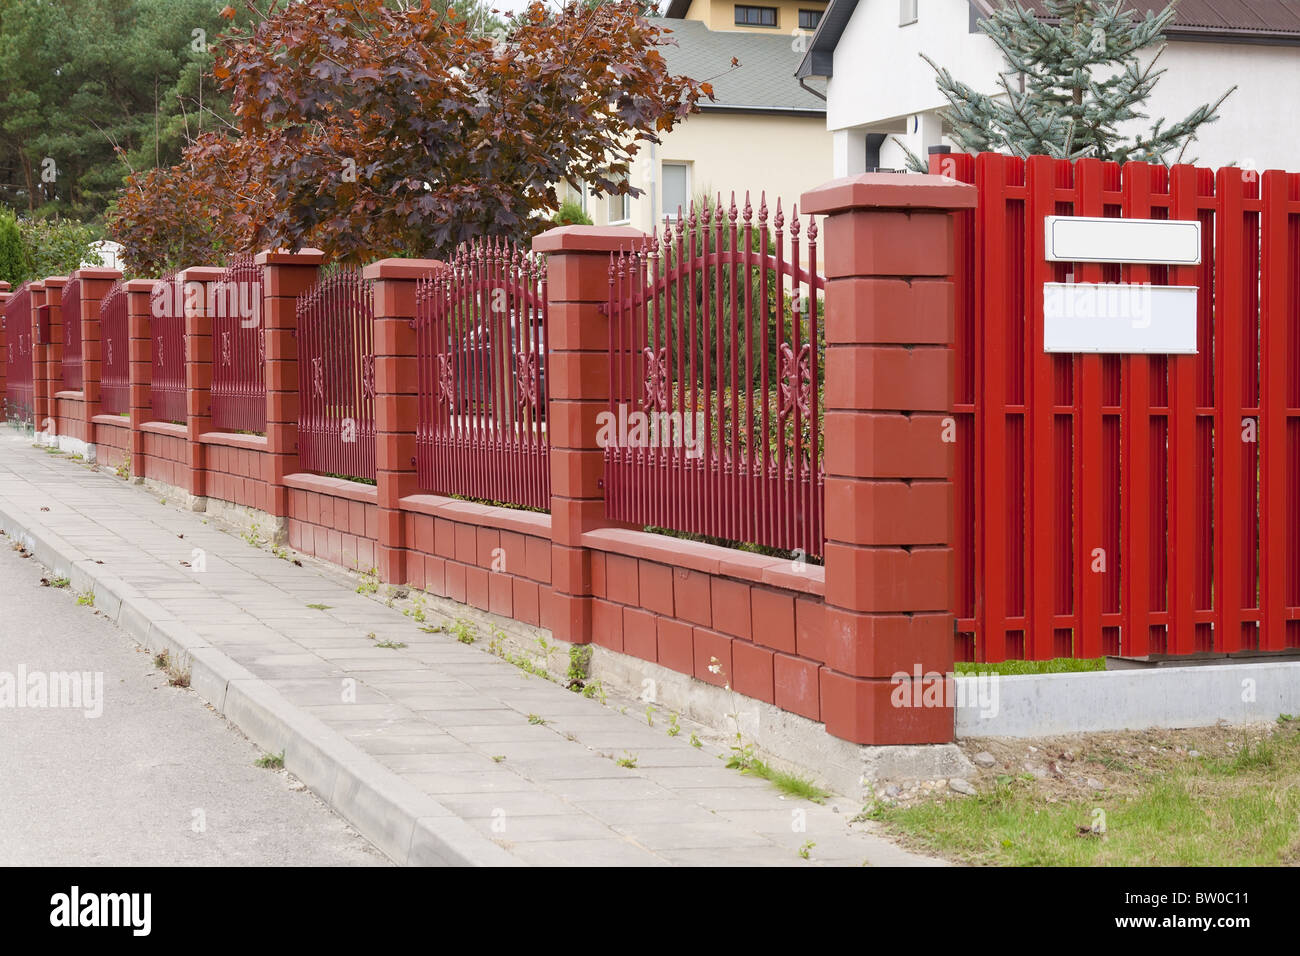
[[[676,46],[660,47],[668,69],[710,81],[715,99],[662,137],[644,144],[632,166],[640,196],[571,191],[597,225],[630,225],[645,232],[675,217],[692,198],[745,190],[758,208],[766,191],[789,215],[806,190],[831,178],[826,101],[794,70],[826,4],[820,0],[672,0],[651,22],[672,31]],[[802,25],[802,26],[801,26]],[[732,68],[732,59],[740,66]]]

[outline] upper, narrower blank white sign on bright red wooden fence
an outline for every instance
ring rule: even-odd
[[[1052,263],[1138,263],[1196,265],[1201,261],[1199,220],[1045,216]]]

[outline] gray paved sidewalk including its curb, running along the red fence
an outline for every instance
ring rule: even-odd
[[[0,527],[134,639],[170,648],[195,691],[283,750],[290,773],[398,862],[935,862],[850,825],[861,806],[849,800],[818,805],[728,770],[722,748],[670,736],[664,713],[649,726],[644,705],[584,698],[486,653],[486,639],[425,633],[338,574],[3,427]],[[428,605],[433,623],[456,613]],[[616,762],[627,757],[633,767]]]

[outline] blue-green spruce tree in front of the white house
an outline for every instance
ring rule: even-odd
[[[1149,118],[1141,107],[1165,73],[1156,64],[1176,1],[1139,17],[1126,0],[1041,0],[1039,14],[1020,0],[1004,0],[979,22],[1008,64],[1000,77],[1002,95],[972,90],[922,53],[950,104],[942,116],[952,138],[967,152],[1184,161],[1196,131],[1218,118],[1219,105],[1235,86],[1214,105],[1197,107],[1179,122],[1166,126],[1161,118],[1131,137],[1119,131],[1128,121]],[[1143,66],[1139,51],[1156,44],[1158,49]],[[909,163],[924,170],[910,151]]]

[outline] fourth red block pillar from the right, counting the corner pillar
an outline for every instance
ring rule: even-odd
[[[264,472],[266,511],[289,518],[289,486],[285,476],[298,467],[298,297],[320,277],[325,254],[317,248],[300,252],[259,252],[263,267],[261,321],[266,336],[266,451]]]

